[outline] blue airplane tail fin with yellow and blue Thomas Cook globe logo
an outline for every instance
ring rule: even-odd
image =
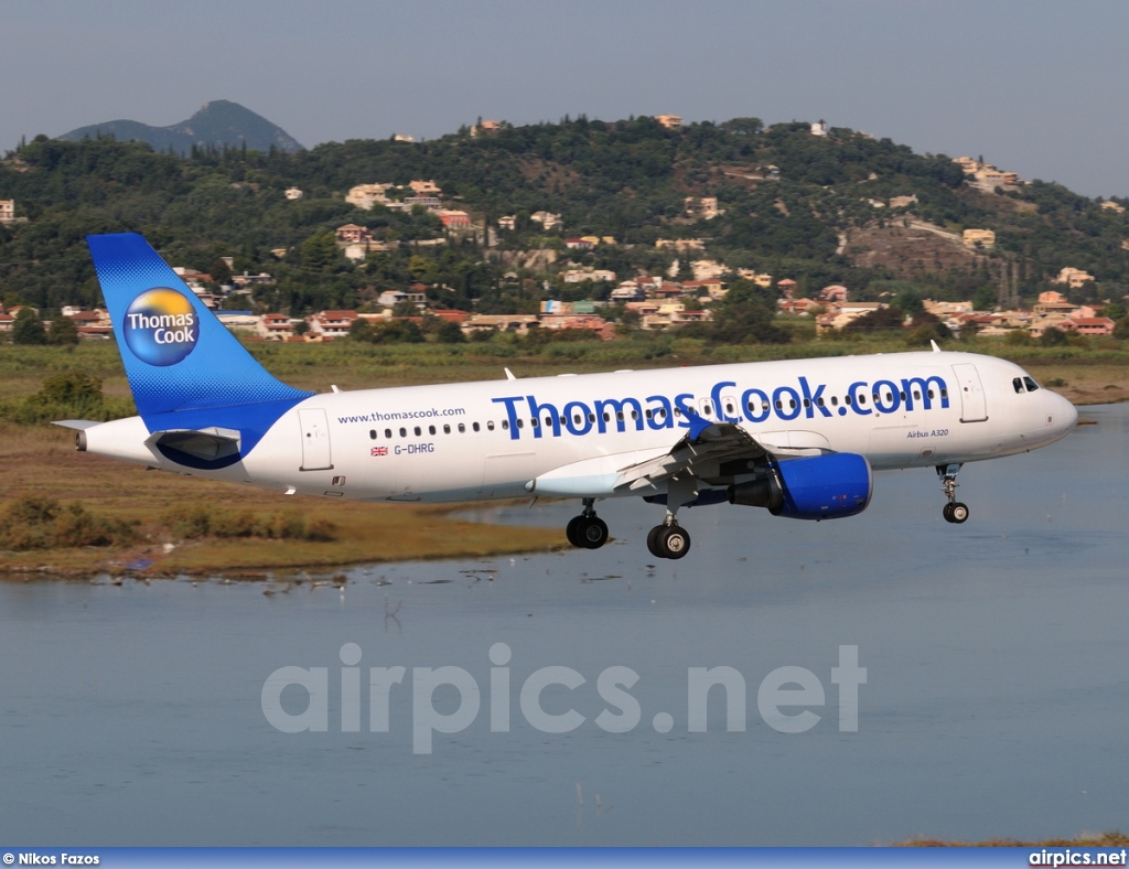
[[[87,243],[133,401],[150,431],[238,429],[246,453],[313,395],[259,365],[140,235],[88,236]]]

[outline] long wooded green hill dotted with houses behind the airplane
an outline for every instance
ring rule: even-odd
[[[492,247],[481,236],[453,238],[345,261],[332,239],[341,223],[388,242],[443,235],[422,209],[361,211],[344,202],[353,185],[415,178],[435,179],[445,203],[469,211],[479,227],[514,216],[516,230],[497,231]],[[304,191],[301,200],[287,200],[291,186]],[[690,217],[688,196],[716,196],[724,213]],[[916,201],[891,208],[893,198]],[[570,260],[621,276],[665,271],[674,254],[655,242],[679,238],[702,240],[695,257],[791,278],[804,293],[838,282],[858,299],[968,298],[980,290],[1030,300],[1065,266],[1096,278],[1071,291],[1077,300],[1129,290],[1124,212],[1038,181],[981,192],[944,155],[848,129],[822,137],[808,124],[762,129],[756,118],[668,130],[650,117],[580,117],[292,153],[198,146],[187,157],[106,138],[38,137],[0,164],[0,199],[15,199],[28,218],[0,228],[0,296],[45,308],[97,301],[82,237],[122,230],[146,234],[176,264],[209,271],[218,257],[235,256],[237,272],[269,271],[278,284],[256,293],[256,302],[296,314],[352,307],[413,281],[449,287],[432,291],[446,306],[495,313],[532,310],[546,297],[606,296],[604,286],[546,291],[542,282],[555,282]],[[560,213],[563,230],[544,231],[530,220],[536,211]],[[997,244],[965,247],[959,239],[968,228],[995,230]],[[616,244],[563,249],[563,236],[589,234]],[[279,262],[273,248],[289,253]],[[551,254],[528,255],[537,248],[557,254],[548,271],[540,270]]]

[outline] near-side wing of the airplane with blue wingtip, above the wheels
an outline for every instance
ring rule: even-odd
[[[614,490],[647,494],[646,490],[684,472],[697,479],[716,477],[721,476],[723,465],[732,469],[732,463],[746,463],[743,471],[747,473],[770,458],[772,454],[739,425],[693,415],[690,431],[669,453],[622,468]]]

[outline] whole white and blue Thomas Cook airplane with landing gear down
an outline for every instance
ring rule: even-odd
[[[312,393],[270,375],[137,234],[87,238],[137,416],[64,420],[76,449],[287,495],[357,501],[579,499],[665,511],[653,555],[681,559],[686,507],[793,519],[867,508],[876,471],[936,469],[961,524],[961,466],[1064,438],[1078,414],[1018,366],[942,351]]]

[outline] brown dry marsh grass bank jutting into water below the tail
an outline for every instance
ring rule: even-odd
[[[9,517],[12,504],[17,510],[2,520],[2,533],[26,533],[29,501],[58,502],[64,517],[78,504],[87,521],[132,536],[97,546],[89,536],[50,537],[70,545],[23,551],[0,543],[0,572],[212,574],[544,552],[564,542],[559,529],[453,519],[456,508],[289,499],[147,472],[76,453],[73,432],[63,429],[0,423],[0,516]]]

